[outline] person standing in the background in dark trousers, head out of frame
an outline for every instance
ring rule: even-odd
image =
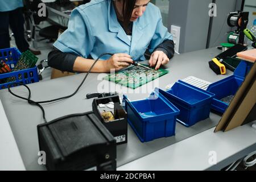
[[[24,37],[22,8],[22,0],[0,0],[0,49],[10,48],[10,25],[19,51],[24,52],[30,50],[34,55],[39,55],[40,51],[31,49]]]

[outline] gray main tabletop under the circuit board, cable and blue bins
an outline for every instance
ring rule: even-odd
[[[170,64],[166,67],[170,70],[170,73],[157,79],[156,81],[159,80],[159,85],[157,85],[157,82],[155,85],[151,85],[152,88],[147,89],[147,93],[139,93],[138,91],[140,89],[146,89],[150,83],[133,90],[113,83],[110,84],[109,81],[102,81],[101,78],[106,76],[105,73],[90,73],[84,85],[82,85],[81,89],[75,96],[68,98],[67,100],[43,105],[46,111],[47,121],[51,121],[52,119],[63,115],[84,113],[85,111],[92,110],[93,99],[86,100],[85,96],[87,93],[113,92],[113,88],[116,87],[117,92],[120,93],[120,97],[125,93],[130,100],[138,100],[148,97],[149,93],[154,89],[154,86],[164,89],[166,85],[188,76],[195,76],[210,82],[221,80],[222,78],[232,75],[233,72],[227,71],[227,75],[217,76],[210,70],[208,61],[218,55],[218,53],[220,53],[219,50],[211,48],[176,55],[171,59]],[[81,73],[75,76],[30,84],[28,86],[32,93],[31,100],[45,101],[67,96],[75,91],[84,76],[85,73]],[[28,94],[27,90],[23,86],[13,88],[13,92],[23,97],[27,97]],[[43,123],[42,111],[39,107],[31,106],[27,104],[26,101],[12,96],[7,89],[0,91],[0,99],[2,100],[3,107],[5,108],[11,129],[13,130],[24,166],[28,170],[45,169],[44,166],[39,166],[38,164],[39,146],[36,131],[36,126]],[[189,128],[177,123],[176,135],[174,137],[160,138],[146,143],[141,143],[137,135],[129,126],[128,143],[117,147],[117,166],[122,166],[123,164],[142,158],[145,155],[170,146],[180,140],[208,130],[216,126],[219,120],[220,116],[210,113],[210,118]]]

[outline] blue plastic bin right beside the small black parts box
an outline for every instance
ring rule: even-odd
[[[179,109],[157,90],[144,100],[129,101],[127,96],[123,96],[123,102],[125,102],[128,123],[141,142],[175,135]]]

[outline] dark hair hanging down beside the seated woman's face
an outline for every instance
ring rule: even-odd
[[[122,0],[123,8],[122,8],[122,18],[123,18],[123,26],[127,29],[131,14],[133,13],[134,5],[136,0]]]

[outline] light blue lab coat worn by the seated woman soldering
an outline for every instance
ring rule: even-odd
[[[112,0],[93,0],[74,9],[68,29],[53,44],[62,52],[97,59],[102,53],[127,53],[133,60],[145,60],[147,47],[154,51],[172,35],[163,26],[158,7],[149,3],[133,22],[131,41],[119,24]],[[106,55],[102,60],[109,59]]]

